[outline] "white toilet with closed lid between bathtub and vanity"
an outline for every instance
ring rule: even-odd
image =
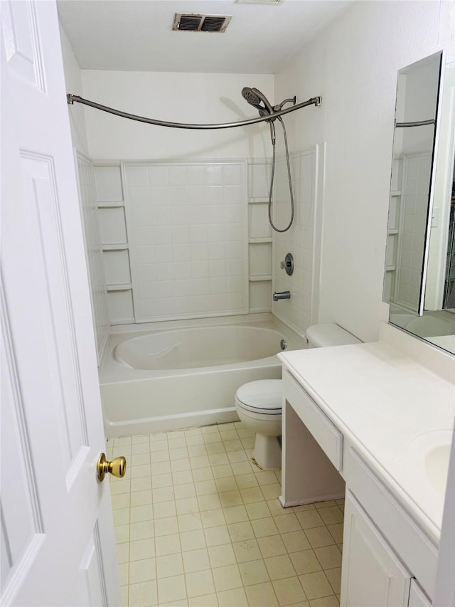
[[[306,330],[309,347],[346,346],[360,340],[338,324],[314,324]],[[281,468],[283,389],[281,379],[259,379],[243,384],[235,394],[240,420],[256,433],[253,458],[259,468]]]

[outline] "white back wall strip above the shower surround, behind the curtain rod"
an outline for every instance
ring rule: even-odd
[[[241,95],[245,86],[273,96],[273,75],[82,71],[82,97],[124,112],[170,122],[215,124],[257,117]],[[267,157],[264,123],[223,130],[144,125],[87,107],[90,157],[202,159]]]

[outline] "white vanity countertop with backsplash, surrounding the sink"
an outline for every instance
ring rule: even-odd
[[[439,543],[444,490],[429,482],[424,454],[451,442],[455,358],[387,324],[378,342],[278,356]],[[448,462],[449,450],[446,458]]]

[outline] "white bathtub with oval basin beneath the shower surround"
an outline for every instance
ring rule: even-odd
[[[281,340],[305,347],[274,320],[204,322],[110,335],[100,369],[107,438],[235,421],[239,386],[282,376]]]

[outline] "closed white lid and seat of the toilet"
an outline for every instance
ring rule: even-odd
[[[237,390],[237,403],[253,413],[281,415],[283,388],[281,379],[259,379]]]

